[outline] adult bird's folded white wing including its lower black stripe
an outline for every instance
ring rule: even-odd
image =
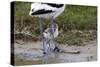
[[[47,4],[32,3],[31,5],[32,15],[47,14],[47,13],[53,13],[53,12],[56,12],[56,8],[51,7]]]

